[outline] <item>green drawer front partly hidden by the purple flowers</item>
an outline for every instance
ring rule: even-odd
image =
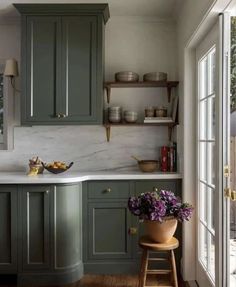
[[[147,191],[159,191],[159,190],[170,190],[175,194],[177,192],[177,181],[176,180],[148,180],[148,181],[136,181],[135,192],[136,195]]]

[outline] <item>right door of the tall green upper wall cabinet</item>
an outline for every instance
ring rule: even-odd
[[[62,31],[63,120],[96,121],[97,17],[63,17]]]

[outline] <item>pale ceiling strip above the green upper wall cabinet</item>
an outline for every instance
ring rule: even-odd
[[[108,3],[112,16],[175,18],[184,0],[0,0],[0,17],[15,17],[12,3]]]

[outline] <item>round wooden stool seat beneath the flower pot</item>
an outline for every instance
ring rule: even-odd
[[[151,239],[149,239],[148,236],[142,236],[139,239],[139,246],[141,248],[153,250],[153,251],[168,251],[173,250],[179,247],[179,240],[175,237],[172,237],[170,241],[166,243],[157,243],[153,242]]]

